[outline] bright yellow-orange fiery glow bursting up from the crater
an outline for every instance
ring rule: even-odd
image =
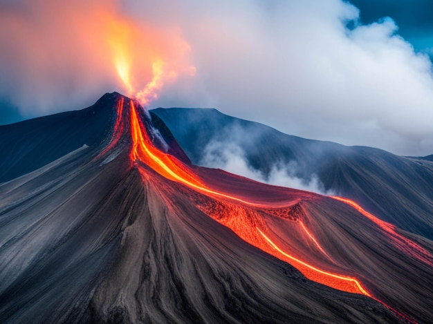
[[[142,106],[158,99],[164,84],[178,75],[195,74],[195,67],[187,60],[190,46],[178,31],[163,33],[119,17],[108,19],[108,41],[116,72],[129,97]]]

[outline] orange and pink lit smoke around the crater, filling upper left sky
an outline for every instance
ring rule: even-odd
[[[115,0],[0,1],[0,44],[0,97],[26,117],[84,108],[113,90],[142,90],[146,101],[163,78],[194,73],[178,26],[154,26]]]

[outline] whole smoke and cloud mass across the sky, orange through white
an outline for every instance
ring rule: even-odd
[[[213,106],[292,135],[432,154],[430,59],[391,18],[359,17],[343,0],[0,0],[0,97],[33,117],[127,91],[115,37],[136,90],[156,57],[169,62],[151,108]]]

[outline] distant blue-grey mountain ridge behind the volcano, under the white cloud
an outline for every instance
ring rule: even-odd
[[[326,190],[355,200],[398,227],[433,239],[433,162],[363,146],[306,140],[239,120],[215,109],[158,108],[194,164],[212,142],[236,145],[252,169],[268,175],[275,165],[295,162],[296,176],[317,175]],[[214,150],[225,149],[216,146]]]

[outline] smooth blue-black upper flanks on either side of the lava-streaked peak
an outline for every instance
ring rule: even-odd
[[[116,119],[115,97],[115,93],[104,95],[93,106],[80,111],[0,125],[0,183],[39,169],[83,145],[107,144]],[[165,133],[169,153],[190,162],[167,126],[151,115],[155,126]]]

